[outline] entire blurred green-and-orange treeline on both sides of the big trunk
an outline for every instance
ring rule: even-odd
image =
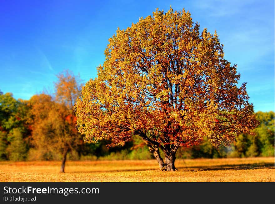
[[[151,159],[146,144],[133,137],[124,146],[107,148],[101,140],[87,143],[75,127],[74,103],[83,84],[70,71],[57,75],[53,94],[38,94],[30,100],[16,100],[0,91],[0,159],[12,161],[60,160],[64,172],[66,158]],[[181,147],[177,158],[226,158],[274,156],[274,112],[257,112],[260,125],[255,135],[241,134],[236,142],[220,149],[205,138],[200,145]]]

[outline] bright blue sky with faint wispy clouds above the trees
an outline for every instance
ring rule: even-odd
[[[274,111],[274,1],[15,1],[0,0],[0,90],[28,100],[53,90],[65,69],[86,82],[97,76],[108,39],[158,7],[189,10],[201,29],[217,30],[225,59],[255,111]]]

